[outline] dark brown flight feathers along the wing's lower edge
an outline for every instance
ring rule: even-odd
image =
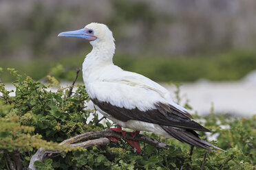
[[[156,109],[143,112],[138,110],[138,108],[130,110],[113,106],[106,101],[98,101],[98,99],[92,99],[92,101],[101,110],[120,121],[137,120],[171,127],[182,127],[190,130],[210,132],[210,130],[202,125],[192,121],[192,116],[189,113],[186,114],[169,104],[158,103],[156,104]]]

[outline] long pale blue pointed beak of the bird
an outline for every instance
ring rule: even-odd
[[[86,29],[78,29],[71,32],[61,32],[58,34],[58,36],[70,36],[70,37],[76,37],[76,38],[84,38],[87,40],[95,40],[96,36],[86,34]]]

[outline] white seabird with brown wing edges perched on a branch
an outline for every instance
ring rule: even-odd
[[[89,23],[58,36],[83,38],[92,45],[83,62],[83,81],[96,110],[118,125],[113,130],[122,132],[125,127],[136,130],[135,134],[153,132],[191,146],[220,149],[200,138],[195,131],[211,131],[193,121],[189,111],[173,101],[169,90],[113,63],[116,46],[107,25]]]

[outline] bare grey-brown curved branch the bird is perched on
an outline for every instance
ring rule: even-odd
[[[83,148],[107,145],[110,143],[107,137],[116,137],[116,138],[130,139],[134,141],[142,141],[156,148],[169,149],[169,145],[167,145],[166,143],[162,143],[156,140],[155,138],[151,138],[150,136],[147,136],[144,134],[138,134],[137,136],[134,137],[134,136],[131,136],[130,132],[127,132],[125,134],[125,137],[123,137],[121,133],[113,130],[86,132],[84,134],[79,134],[77,136],[69,138],[63,141],[62,143],[60,143],[59,145],[70,145],[73,147],[83,147]],[[81,142],[81,141],[85,141],[85,142]],[[78,142],[81,142],[81,143],[78,143]],[[36,160],[43,161],[43,157],[46,154],[59,154],[59,153],[60,153],[59,151],[43,150],[43,148],[40,148],[38,151],[36,151],[36,154],[32,156],[28,169],[35,170],[36,167],[34,167],[34,162]]]

